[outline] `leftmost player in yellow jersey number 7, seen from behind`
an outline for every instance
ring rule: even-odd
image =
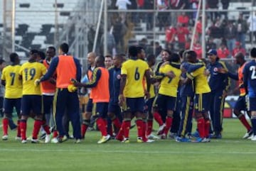
[[[8,125],[9,119],[12,117],[12,112],[15,107],[18,121],[17,121],[17,136],[16,140],[21,139],[20,128],[20,112],[21,112],[21,96],[22,96],[22,81],[18,77],[18,72],[21,69],[19,65],[19,58],[16,53],[10,55],[11,65],[4,68],[1,75],[1,84],[6,87],[4,95],[4,118],[3,118],[3,140],[8,139]]]

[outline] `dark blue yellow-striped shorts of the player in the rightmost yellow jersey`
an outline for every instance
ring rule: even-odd
[[[195,109],[197,112],[206,112],[210,109],[210,93],[196,94]]]

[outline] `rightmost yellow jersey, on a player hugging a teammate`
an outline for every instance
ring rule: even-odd
[[[206,67],[200,67],[193,72],[188,72],[187,77],[189,79],[195,79],[196,94],[203,94],[210,92],[210,87],[207,80],[207,75],[205,75]]]

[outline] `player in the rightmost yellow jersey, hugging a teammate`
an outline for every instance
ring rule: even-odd
[[[186,52],[186,59],[188,62],[195,64],[197,62],[196,52],[189,50]],[[191,67],[193,68],[193,67]],[[190,70],[188,68],[187,78],[183,81],[183,84],[190,84],[195,80],[195,109],[196,109],[196,121],[199,132],[199,138],[196,139],[196,142],[210,142],[209,139],[209,128],[210,128],[210,119],[208,115],[210,103],[210,87],[207,81],[206,76],[206,67],[203,65],[197,70]]]

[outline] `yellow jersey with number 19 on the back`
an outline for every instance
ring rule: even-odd
[[[41,87],[34,84],[36,79],[40,79],[46,74],[46,67],[40,62],[26,62],[21,65],[19,75],[22,77],[23,95],[41,95]]]

